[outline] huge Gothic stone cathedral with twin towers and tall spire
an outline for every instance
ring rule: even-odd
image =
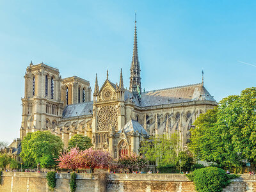
[[[124,88],[122,69],[116,84],[107,71],[102,87],[96,74],[92,94],[89,81],[61,78],[57,68],[31,61],[24,76],[20,139],[28,132],[48,130],[67,147],[74,134],[82,134],[92,138],[94,148],[118,158],[138,153],[140,142],[149,136],[177,131],[180,146],[186,148],[196,117],[217,105],[204,79],[198,84],[141,92],[140,72],[136,21],[129,90]]]

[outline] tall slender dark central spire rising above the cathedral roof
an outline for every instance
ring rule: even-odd
[[[134,44],[133,55],[131,62],[131,77],[129,90],[133,93],[141,92],[141,77],[140,77],[140,62],[138,58],[138,45],[137,45],[137,20],[135,13],[135,26],[134,26]]]

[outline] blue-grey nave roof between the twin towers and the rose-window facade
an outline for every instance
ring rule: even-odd
[[[65,107],[62,113],[63,118],[92,115],[93,101],[71,104]]]

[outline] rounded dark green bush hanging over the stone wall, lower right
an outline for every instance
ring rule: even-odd
[[[239,175],[229,176],[220,168],[207,167],[195,170],[187,177],[189,180],[193,180],[198,192],[219,192],[230,183],[229,179],[234,179]]]

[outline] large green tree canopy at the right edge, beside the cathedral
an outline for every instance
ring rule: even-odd
[[[230,95],[200,115],[191,129],[189,148],[198,159],[242,166],[256,159],[256,88]]]

